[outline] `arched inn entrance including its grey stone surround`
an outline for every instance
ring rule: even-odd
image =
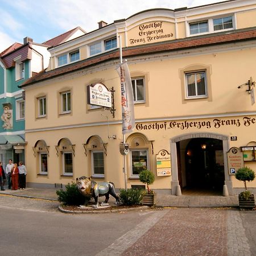
[[[233,194],[228,174],[226,152],[228,137],[220,134],[185,134],[171,139],[172,195],[177,185],[181,191],[188,189],[221,195],[223,185]]]

